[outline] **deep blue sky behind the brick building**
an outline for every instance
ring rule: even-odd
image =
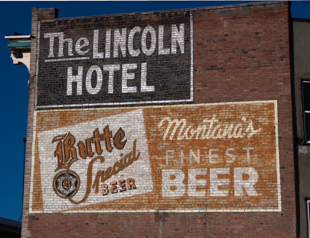
[[[59,9],[59,18],[115,13],[221,6],[259,1],[11,1],[0,2],[2,117],[0,150],[0,217],[18,220],[22,213],[24,142],[27,129],[28,69],[14,65],[6,34],[31,33],[31,8]],[[291,15],[310,19],[310,1],[292,1]],[[5,152],[5,153],[4,153]]]

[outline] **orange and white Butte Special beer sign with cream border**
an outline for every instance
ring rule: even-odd
[[[32,213],[281,210],[276,101],[37,111],[35,135]]]

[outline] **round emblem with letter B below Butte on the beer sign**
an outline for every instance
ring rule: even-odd
[[[54,192],[61,198],[73,197],[80,187],[80,178],[72,170],[61,171],[53,180]]]

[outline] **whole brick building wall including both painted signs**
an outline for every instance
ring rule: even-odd
[[[22,236],[295,237],[289,11],[33,9]]]

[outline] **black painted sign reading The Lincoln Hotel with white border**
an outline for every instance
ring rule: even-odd
[[[193,101],[190,12],[44,22],[38,38],[39,109]]]

